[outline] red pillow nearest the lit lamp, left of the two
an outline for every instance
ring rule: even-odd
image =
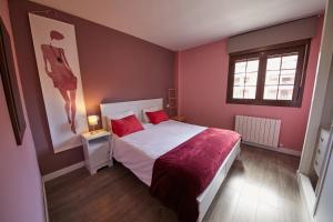
[[[112,131],[123,137],[133,132],[143,130],[142,124],[134,114],[128,115],[119,120],[111,120]]]

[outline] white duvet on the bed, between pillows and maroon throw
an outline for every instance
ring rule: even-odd
[[[113,158],[150,186],[154,161],[206,128],[173,120],[119,138],[112,137]]]

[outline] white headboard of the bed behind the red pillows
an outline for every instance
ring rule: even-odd
[[[102,124],[104,129],[109,129],[107,124],[108,117],[117,115],[125,111],[133,111],[138,119],[143,122],[142,110],[159,107],[163,109],[163,99],[152,99],[152,100],[137,100],[128,102],[113,102],[113,103],[102,103],[101,114],[102,114]]]

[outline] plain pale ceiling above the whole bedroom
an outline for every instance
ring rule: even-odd
[[[31,0],[179,51],[320,13],[326,0]]]

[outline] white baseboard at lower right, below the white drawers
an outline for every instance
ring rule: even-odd
[[[306,222],[314,222],[312,214],[313,214],[313,206],[315,203],[315,194],[309,178],[306,178],[299,171],[297,171],[297,184],[299,184],[300,195],[302,200],[302,205],[304,212],[306,213],[306,219],[307,219]]]

